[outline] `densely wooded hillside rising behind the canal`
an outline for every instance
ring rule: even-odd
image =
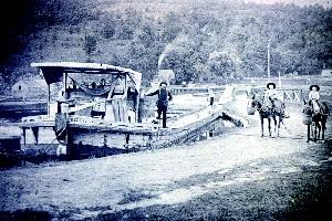
[[[272,76],[332,67],[332,10],[318,4],[13,0],[0,19],[2,90],[38,74],[30,63],[43,61],[125,66],[145,83],[159,69],[174,70],[176,83],[264,76],[269,40]]]

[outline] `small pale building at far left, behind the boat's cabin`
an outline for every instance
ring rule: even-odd
[[[44,80],[21,80],[11,91],[13,97],[39,97],[48,95],[48,84]]]

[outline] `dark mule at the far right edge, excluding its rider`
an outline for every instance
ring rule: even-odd
[[[310,134],[313,136],[313,140],[317,141],[320,139],[324,139],[328,116],[330,115],[330,110],[328,104],[322,102],[321,105],[318,103],[311,103],[303,101],[303,109],[302,113],[305,117],[311,117],[311,124],[308,125],[308,136],[307,143],[311,140]],[[310,127],[311,125],[311,127]]]

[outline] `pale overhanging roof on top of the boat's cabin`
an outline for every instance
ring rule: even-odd
[[[48,84],[62,82],[63,73],[80,74],[110,74],[110,75],[128,75],[135,83],[137,91],[142,84],[142,73],[102,63],[80,63],[80,62],[42,62],[31,63],[31,66],[39,67]]]

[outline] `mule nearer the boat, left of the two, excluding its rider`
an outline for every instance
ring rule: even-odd
[[[272,118],[274,122],[274,134],[277,133],[277,136],[279,137],[280,125],[283,123],[283,118],[284,118],[284,103],[279,99],[276,99],[273,101],[273,107],[272,107],[272,103],[264,104],[263,96],[251,95],[251,98],[249,99],[250,99],[249,106],[255,107],[255,109],[258,110],[260,116],[261,137],[264,136],[264,126],[263,126],[264,118],[268,119],[269,136],[270,137],[272,136],[271,134],[271,118]]]

